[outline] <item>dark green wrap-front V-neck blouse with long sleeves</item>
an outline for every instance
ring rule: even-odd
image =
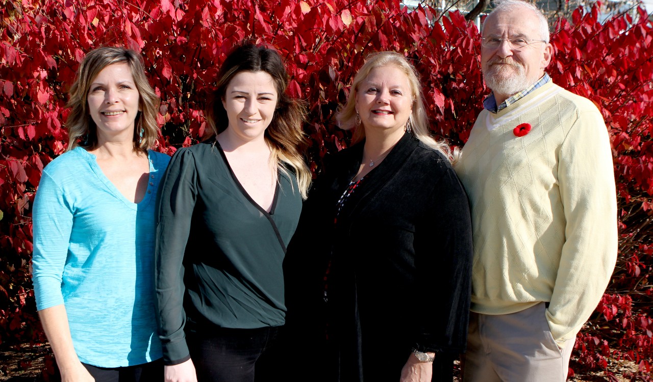
[[[189,358],[184,327],[285,323],[283,259],[302,199],[278,171],[270,212],[247,194],[217,141],[178,150],[157,202],[155,287],[166,364]]]

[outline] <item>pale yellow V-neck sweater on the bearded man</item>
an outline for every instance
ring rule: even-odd
[[[529,123],[517,137],[513,129]],[[561,343],[601,299],[617,253],[612,152],[601,113],[551,81],[498,113],[481,111],[456,172],[471,205],[471,310],[550,302]]]

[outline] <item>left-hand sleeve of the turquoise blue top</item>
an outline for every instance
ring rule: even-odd
[[[37,309],[63,304],[61,280],[72,231],[72,209],[63,190],[43,171],[33,211],[32,281]]]

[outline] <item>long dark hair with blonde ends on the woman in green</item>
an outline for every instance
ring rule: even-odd
[[[270,125],[265,129],[264,138],[272,151],[275,163],[285,165],[279,167],[281,171],[286,171],[287,166],[295,173],[300,194],[303,199],[306,199],[312,178],[303,155],[308,147],[308,141],[302,130],[306,108],[304,101],[292,98],[286,93],[288,74],[278,51],[245,43],[229,53],[220,68],[217,89],[205,113],[210,127],[205,134],[205,139],[220,134],[229,126],[229,118],[222,100],[225,98],[227,85],[240,72],[266,72],[274,80],[279,95],[277,108],[274,110]]]

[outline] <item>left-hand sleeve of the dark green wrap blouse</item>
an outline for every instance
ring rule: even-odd
[[[157,197],[155,289],[159,338],[167,365],[190,359],[183,327],[183,256],[197,199],[197,172],[191,151],[178,150],[163,175]]]

